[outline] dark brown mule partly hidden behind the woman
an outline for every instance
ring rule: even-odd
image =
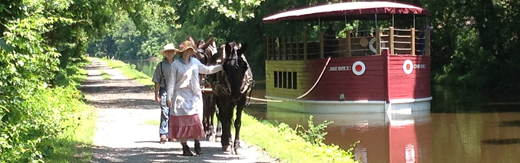
[[[191,36],[188,36],[188,40],[192,43],[195,41]],[[205,65],[215,65],[215,62],[210,62],[210,58],[217,52],[217,47],[213,40],[213,37],[208,39],[206,42],[199,41],[195,45],[195,56],[202,64]],[[209,79],[207,75],[199,74],[200,84],[202,88],[211,88],[209,84]],[[222,125],[220,125],[220,121],[217,123],[217,130],[215,133],[214,128],[214,115],[217,114],[218,119],[218,110],[216,108],[216,102],[214,98],[214,94],[211,91],[203,91],[202,92],[202,101],[204,102],[204,111],[203,111],[203,120],[202,125],[204,126],[204,132],[206,133],[206,138],[208,140],[220,141],[220,136],[222,135]]]

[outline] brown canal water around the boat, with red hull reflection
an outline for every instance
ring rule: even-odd
[[[157,62],[127,61],[153,74]],[[253,96],[263,98],[265,83]],[[432,87],[431,111],[411,114],[303,114],[265,104],[245,112],[294,127],[334,121],[324,141],[348,149],[356,141],[361,162],[520,162],[520,96],[484,94],[464,88]]]

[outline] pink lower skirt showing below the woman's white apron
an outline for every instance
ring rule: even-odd
[[[169,138],[188,138],[193,139],[197,136],[203,138],[204,128],[202,127],[202,120],[199,114],[185,115],[185,116],[172,116],[169,119]]]

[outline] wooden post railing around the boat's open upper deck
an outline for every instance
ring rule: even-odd
[[[370,33],[370,34],[368,34]],[[376,29],[346,31],[344,38],[318,33],[317,40],[308,35],[266,37],[266,60],[308,60],[326,57],[381,55],[387,49],[394,55],[430,56],[430,31],[415,29]],[[376,39],[379,38],[379,39]],[[372,44],[370,44],[372,42]]]

